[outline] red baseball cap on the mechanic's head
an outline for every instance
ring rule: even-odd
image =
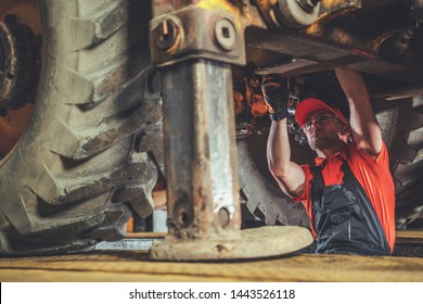
[[[345,118],[344,114],[338,109],[331,107],[317,98],[307,98],[299,102],[295,109],[295,119],[297,121],[298,125],[303,127],[308,122],[308,117],[317,111],[328,111],[333,113],[345,125],[348,125],[347,118]]]

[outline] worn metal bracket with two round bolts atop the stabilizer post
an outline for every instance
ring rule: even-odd
[[[243,27],[232,14],[189,5],[150,22],[152,62],[158,67],[189,59],[245,65]]]

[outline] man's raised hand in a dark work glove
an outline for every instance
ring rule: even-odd
[[[270,118],[282,121],[287,116],[289,89],[287,80],[280,74],[269,74],[262,77],[261,91],[269,106]]]

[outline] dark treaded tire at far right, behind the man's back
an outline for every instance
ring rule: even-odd
[[[375,110],[389,150],[397,229],[422,229],[423,97],[377,102]]]

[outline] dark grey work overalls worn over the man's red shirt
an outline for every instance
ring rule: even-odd
[[[390,254],[381,221],[347,162],[344,183],[324,186],[321,168],[310,166],[316,253]]]

